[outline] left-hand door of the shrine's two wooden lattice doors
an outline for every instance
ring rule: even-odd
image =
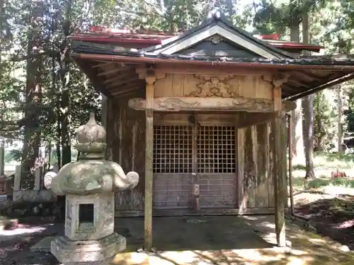
[[[154,208],[190,208],[190,126],[154,126]]]

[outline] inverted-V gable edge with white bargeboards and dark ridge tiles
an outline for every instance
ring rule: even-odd
[[[290,53],[277,49],[267,42],[253,37],[245,30],[235,27],[220,13],[213,13],[211,18],[207,18],[202,24],[185,31],[185,33],[162,40],[161,45],[142,50],[154,54],[175,54],[214,35],[224,37],[235,46],[255,52],[265,59],[294,58]]]

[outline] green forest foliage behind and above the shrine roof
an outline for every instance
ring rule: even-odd
[[[29,153],[33,153],[40,145],[60,143],[63,116],[69,121],[66,134],[70,139],[74,138],[76,127],[86,122],[89,112],[101,116],[98,91],[72,61],[62,59],[68,47],[65,29],[70,33],[84,32],[91,25],[102,25],[172,33],[201,23],[211,3],[207,0],[5,0],[0,14],[0,138],[25,139],[30,142]],[[253,25],[255,33],[262,34],[286,35],[291,25],[301,23],[304,12],[310,13],[312,42],[325,45],[326,53],[353,52],[352,1],[262,0],[246,4],[242,10],[235,0],[213,3],[235,25],[241,28]],[[40,93],[33,92],[34,84],[39,85]],[[346,121],[350,131],[354,130],[352,87],[346,89]],[[67,91],[69,102],[63,96]],[[69,106],[68,112],[61,109],[63,104]],[[324,93],[316,95],[316,150],[326,150],[333,138],[334,104]],[[35,141],[35,136],[39,141]],[[57,155],[55,148],[51,152]],[[21,155],[19,151],[15,158]],[[10,159],[11,155],[6,157]],[[52,157],[52,161],[56,159]]]

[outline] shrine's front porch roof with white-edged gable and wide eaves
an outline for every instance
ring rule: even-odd
[[[190,52],[193,47],[205,47],[205,40],[208,40],[209,45],[211,42],[212,45],[217,44],[217,49],[222,48],[218,46],[219,42],[212,40],[211,37],[215,35],[224,36],[232,49],[239,49],[243,45],[241,49],[246,52],[222,56],[210,55],[210,52],[205,55]],[[161,71],[166,66],[182,71],[188,66],[196,66],[195,69],[202,66],[208,71],[219,69],[225,73],[234,73],[238,69],[285,73],[288,78],[281,86],[283,100],[296,100],[354,78],[354,55],[309,57],[288,54],[235,28],[222,16],[212,16],[198,27],[161,40],[161,45],[150,48],[132,49],[131,45],[118,46],[115,42],[107,45],[107,42],[98,44],[96,41],[82,40],[72,42],[72,58],[98,90],[113,98],[144,90],[144,80],[139,78],[136,71],[138,66],[149,66]]]

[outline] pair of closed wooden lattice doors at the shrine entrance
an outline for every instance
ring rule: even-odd
[[[154,208],[193,208],[193,184],[201,208],[234,207],[235,141],[233,126],[154,126]]]

